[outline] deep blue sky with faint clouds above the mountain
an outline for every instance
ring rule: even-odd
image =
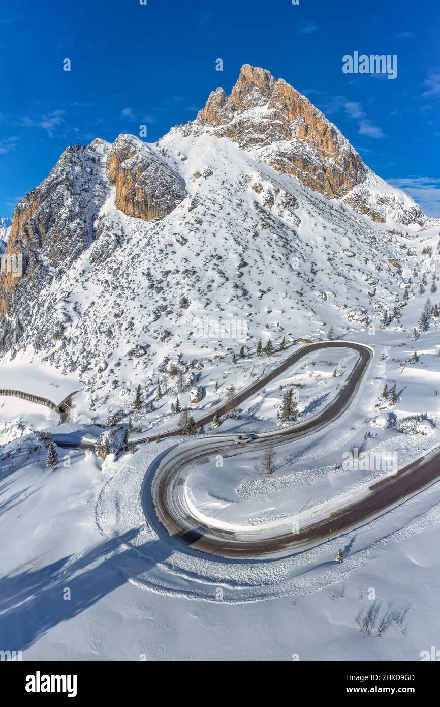
[[[187,122],[242,64],[317,105],[381,177],[440,216],[437,0],[8,0],[0,5],[0,216],[64,148]],[[396,54],[395,80],[343,56]],[[63,60],[71,71],[63,71]],[[216,59],[223,71],[216,71]]]

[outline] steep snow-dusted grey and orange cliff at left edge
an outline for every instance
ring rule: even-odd
[[[107,197],[100,170],[105,145],[66,148],[49,176],[16,206],[5,254],[22,258],[23,274],[17,277],[11,269],[0,274],[0,351],[11,348],[30,324],[44,287],[93,242],[93,224]],[[32,322],[36,339],[40,325]]]

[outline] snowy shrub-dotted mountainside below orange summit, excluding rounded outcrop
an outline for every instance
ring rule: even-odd
[[[159,220],[117,209],[103,141],[69,153],[65,177],[62,158],[32,192],[34,230],[9,242],[27,269],[6,283],[5,349],[30,344],[90,390],[110,382],[122,392],[176,347],[194,358],[221,350],[218,337],[198,333],[205,317],[246,322],[253,347],[260,337],[321,336],[330,318],[341,332],[365,329],[401,298],[398,259],[410,243],[401,249],[366,216],[207,132],[173,129],[149,148],[186,189]]]

